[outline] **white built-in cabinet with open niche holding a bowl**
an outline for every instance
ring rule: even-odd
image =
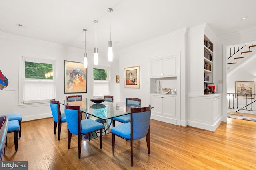
[[[151,118],[180,125],[180,52],[151,57],[150,73]],[[159,84],[160,82],[160,84]],[[176,89],[174,93],[163,93],[160,88]]]

